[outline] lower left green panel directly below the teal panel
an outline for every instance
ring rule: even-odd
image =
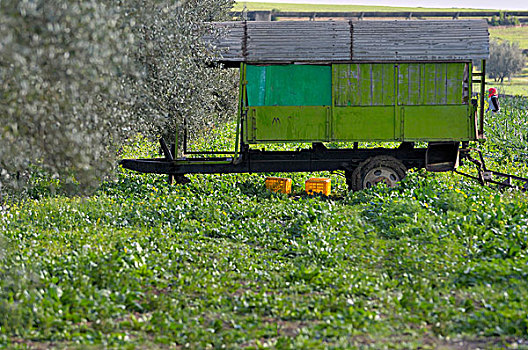
[[[250,107],[246,142],[329,141],[330,107]]]

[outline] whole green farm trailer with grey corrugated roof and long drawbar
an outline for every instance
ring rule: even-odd
[[[164,158],[124,159],[124,168],[168,174],[180,183],[196,173],[342,171],[349,189],[361,190],[380,182],[394,186],[411,168],[455,171],[466,159],[479,166],[482,183],[504,175],[504,186],[513,186],[511,179],[528,184],[490,172],[483,158],[470,156],[469,142],[484,139],[486,21],[214,25],[226,32],[208,39],[222,50],[218,61],[240,71],[235,149],[189,152],[185,136],[184,157],[176,158],[177,142],[160,140]],[[472,98],[474,84],[480,101]],[[373,141],[398,146],[359,147]],[[328,147],[336,142],[351,147]],[[272,143],[311,147],[256,148]]]

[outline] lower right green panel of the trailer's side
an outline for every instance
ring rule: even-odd
[[[469,140],[468,106],[401,107],[405,140]]]

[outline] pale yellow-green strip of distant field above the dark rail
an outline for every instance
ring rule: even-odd
[[[267,2],[244,2],[237,1],[233,7],[234,11],[240,11],[246,7],[249,11],[336,11],[336,12],[355,12],[355,11],[488,11],[470,8],[429,8],[429,7],[392,7],[392,6],[370,6],[370,5],[319,5],[319,4],[283,4],[283,3],[267,3]]]

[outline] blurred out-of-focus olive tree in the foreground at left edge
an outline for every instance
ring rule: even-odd
[[[122,84],[133,38],[98,1],[0,1],[0,186],[32,167],[90,188],[136,124]],[[64,187],[64,186],[63,186]]]

